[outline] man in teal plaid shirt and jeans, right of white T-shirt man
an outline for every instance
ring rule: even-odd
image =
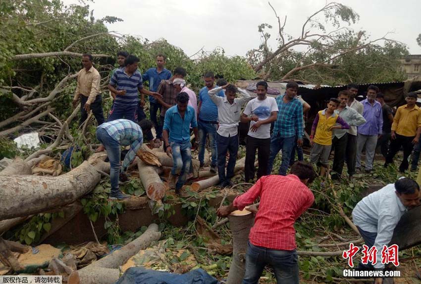
[[[296,137],[298,147],[303,146],[303,105],[296,98],[297,92],[298,84],[288,82],[285,94],[276,98],[279,112],[270,141],[267,174],[271,174],[273,161],[279,150],[282,149],[282,163],[278,174],[286,175]]]

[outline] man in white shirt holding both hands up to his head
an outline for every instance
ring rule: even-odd
[[[225,91],[225,97],[216,94]],[[231,177],[234,176],[235,162],[238,152],[238,122],[241,109],[251,97],[235,98],[237,88],[232,84],[217,87],[208,92],[212,102],[218,108],[219,127],[216,131],[216,149],[218,152],[218,175],[221,187],[231,186]],[[226,152],[229,151],[229,160],[225,174]]]

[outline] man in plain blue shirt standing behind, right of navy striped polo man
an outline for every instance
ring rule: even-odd
[[[142,75],[144,82],[149,81],[149,90],[151,92],[157,92],[159,83],[162,80],[169,80],[171,78],[171,71],[165,69],[165,59],[163,54],[157,55],[157,67],[149,68],[145,74]],[[142,102],[141,102],[142,104]],[[143,106],[142,106],[143,107]],[[160,112],[161,105],[153,96],[149,96],[149,113],[151,114],[151,120],[154,122],[155,131],[157,132],[156,139],[162,139],[162,124],[158,124],[157,114]]]

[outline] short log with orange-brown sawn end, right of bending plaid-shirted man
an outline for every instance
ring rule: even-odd
[[[158,168],[156,166],[149,166],[140,160],[137,165],[139,177],[145,188],[146,195],[148,195],[151,200],[161,200],[165,195],[165,186],[158,175]]]

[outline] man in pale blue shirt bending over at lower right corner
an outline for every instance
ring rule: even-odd
[[[377,248],[375,269],[383,269],[381,251],[383,245],[389,245],[393,231],[408,209],[420,204],[420,186],[407,177],[398,179],[394,184],[388,184],[382,189],[364,197],[354,208],[352,220],[360,231],[364,242],[370,248]],[[360,270],[371,269],[373,266],[360,262]],[[376,280],[376,283],[381,283]]]

